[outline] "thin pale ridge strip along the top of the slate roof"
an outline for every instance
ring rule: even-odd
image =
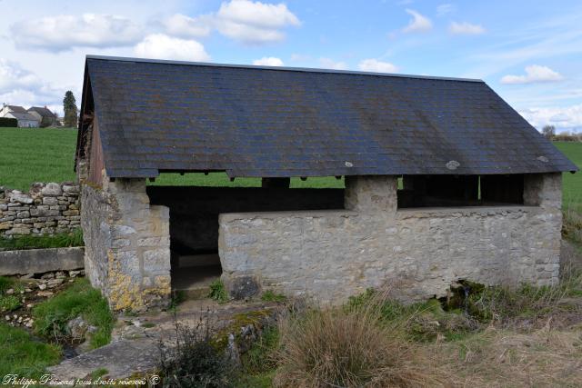
[[[314,67],[289,67],[289,66],[265,66],[265,65],[236,65],[236,64],[215,64],[210,62],[188,62],[188,61],[173,61],[166,59],[147,59],[147,58],[132,58],[127,56],[108,56],[108,55],[86,55],[85,59],[96,59],[104,61],[118,61],[118,62],[135,62],[146,64],[160,64],[160,65],[196,65],[209,67],[231,67],[239,69],[262,69],[262,70],[276,70],[276,71],[290,71],[290,72],[304,72],[304,73],[328,73],[328,74],[342,74],[342,75],[373,75],[373,76],[388,76],[397,78],[415,78],[415,79],[430,79],[437,81],[458,81],[458,82],[476,82],[485,83],[481,79],[475,78],[460,78],[460,77],[446,77],[436,75],[401,75],[393,73],[376,73],[363,72],[356,70],[334,70],[321,69]]]

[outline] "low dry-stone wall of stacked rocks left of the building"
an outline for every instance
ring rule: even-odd
[[[0,237],[70,232],[80,219],[79,186],[73,182],[0,192]]]

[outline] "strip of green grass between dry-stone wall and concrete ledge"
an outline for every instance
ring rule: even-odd
[[[0,250],[66,248],[83,246],[83,231],[75,229],[71,233],[53,235],[23,235],[14,238],[0,238]]]

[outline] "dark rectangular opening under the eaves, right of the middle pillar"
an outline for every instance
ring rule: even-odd
[[[398,207],[523,204],[524,175],[403,175]]]

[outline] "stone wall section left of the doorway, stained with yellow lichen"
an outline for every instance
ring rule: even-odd
[[[146,180],[83,185],[85,274],[115,311],[164,306],[170,296],[169,209],[150,205]]]

